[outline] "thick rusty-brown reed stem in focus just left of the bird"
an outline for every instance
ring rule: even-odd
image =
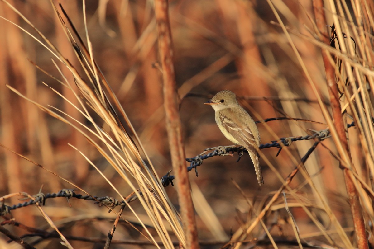
[[[181,122],[178,113],[178,94],[175,84],[172,38],[167,0],[154,0],[160,59],[163,75],[164,108],[168,131],[171,160],[177,181],[178,200],[181,207],[186,248],[199,248],[190,181],[184,163],[184,146],[181,136]]]

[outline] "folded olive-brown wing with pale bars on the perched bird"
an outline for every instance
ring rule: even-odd
[[[257,155],[256,149],[258,145],[247,122],[243,123],[239,120],[234,120],[234,117],[227,117],[225,110],[220,112],[219,118],[223,121],[221,122],[223,127],[239,142],[239,145],[244,146],[248,150],[248,153]]]

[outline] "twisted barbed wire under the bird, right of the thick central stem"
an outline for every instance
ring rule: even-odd
[[[355,126],[355,122],[352,122],[351,124],[347,125],[347,128]],[[301,141],[301,140],[310,140],[310,139],[318,139],[318,140],[324,140],[326,138],[331,137],[329,129],[320,130],[320,131],[314,131],[312,135],[306,135],[306,136],[296,136],[296,137],[281,137],[276,141],[271,141],[271,143],[266,144],[260,144],[260,149],[266,149],[271,147],[277,147],[279,148],[278,153],[276,156],[279,155],[282,148],[284,146],[291,146],[292,142],[294,141]],[[212,152],[207,153],[209,150],[213,150]],[[195,156],[194,158],[186,158],[187,162],[190,162],[190,166],[187,167],[187,171],[191,171],[192,169],[195,169],[196,176],[199,176],[197,173],[197,166],[202,165],[203,160],[207,158],[211,158],[213,156],[227,156],[232,155],[230,152],[237,152],[239,154],[239,158],[236,162],[238,162],[243,155],[243,152],[247,152],[247,150],[241,146],[241,147],[235,147],[233,145],[230,146],[218,146],[218,147],[212,147],[205,149],[202,153]]]

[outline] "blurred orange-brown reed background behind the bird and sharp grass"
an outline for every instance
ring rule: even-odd
[[[313,19],[312,2],[304,0],[274,0],[272,2],[284,24],[294,30],[291,32],[292,41],[311,74],[313,82],[318,87],[321,99],[327,102],[329,109],[321,49],[310,41],[316,39],[310,34],[313,30],[313,22],[309,19]],[[361,4],[361,1],[357,2]],[[13,0],[9,3],[24,14],[55,44],[62,55],[79,68],[73,48],[68,43],[49,1]],[[80,35],[85,37],[81,1],[61,0],[61,4]],[[346,4],[353,13],[350,2]],[[364,19],[368,20],[369,27],[370,25],[374,27],[373,20],[370,19],[373,17],[373,3],[367,2],[366,4],[368,4],[366,10],[371,10],[371,13],[364,12],[367,14],[365,16],[367,19]],[[328,7],[324,10],[327,13],[328,23],[326,25],[332,25],[332,10]],[[35,34],[19,16],[1,2],[0,15],[27,29],[31,34]],[[94,58],[137,131],[157,173],[162,176],[172,167],[165,130],[165,113],[162,106],[162,82],[153,1],[90,0],[86,2],[86,15]],[[339,15],[342,16],[343,13]],[[305,77],[300,62],[289,46],[282,29],[273,23],[278,21],[266,1],[170,1],[170,17],[176,80],[181,97],[180,116],[186,157],[194,157],[207,147],[230,144],[215,124],[213,110],[203,105],[215,93],[223,89],[234,91],[242,106],[255,120],[289,116],[326,123],[316,101],[317,97]],[[345,20],[346,18],[340,19],[341,22]],[[41,82],[47,83],[63,93],[73,103],[77,103],[71,91],[66,90],[60,83],[48,77],[28,61],[30,59],[40,68],[61,80],[61,75],[51,62],[52,55],[19,28],[4,20],[0,22],[3,34],[0,37],[0,142],[67,178],[92,195],[118,198],[114,190],[85,158],[68,145],[68,143],[73,144],[104,172],[124,196],[127,196],[132,192],[131,188],[77,130],[40,112],[36,106],[6,87],[10,85],[42,105],[56,106],[77,120],[86,122],[76,109],[56,96]],[[357,20],[354,20],[349,24],[357,23]],[[354,25],[349,26],[349,29],[354,28]],[[368,37],[366,44],[369,48],[368,55],[372,57],[373,34],[365,33],[365,35]],[[355,37],[356,41],[357,39],[358,37]],[[368,57],[363,63],[367,62],[365,66],[372,69],[373,65],[370,61]],[[362,61],[357,59],[356,62]],[[67,80],[73,84],[73,76],[61,63],[59,65]],[[78,70],[83,72],[81,69]],[[366,77],[373,77],[373,75],[366,75]],[[368,94],[370,94],[368,104],[372,106],[370,100],[373,96],[370,89]],[[372,107],[365,111],[371,113]],[[352,119],[349,119],[348,122],[351,121]],[[104,124],[99,125],[105,127]],[[266,125],[258,124],[258,128],[261,143],[269,143],[280,137],[312,134],[313,131],[309,129],[323,130],[327,128],[327,125],[272,121],[267,122]],[[357,166],[358,174],[364,176],[365,181],[371,184],[371,171],[367,164],[368,152],[362,150],[360,140],[362,133],[356,128],[350,128],[349,135],[353,164]],[[283,149],[278,157],[275,156],[278,151],[276,148],[264,149],[262,152],[285,178],[313,143],[314,141],[295,142],[291,147]],[[334,233],[336,227],[331,225],[329,215],[321,208],[322,202],[328,204],[338,222],[346,229],[347,236],[352,239],[352,244],[355,245],[352,215],[347,202],[343,172],[328,149],[334,153],[337,153],[337,150],[332,139],[323,141],[323,144],[325,147],[319,146],[305,164],[305,169],[310,176],[308,179],[312,180],[315,187],[311,187],[307,182],[308,179],[306,180],[301,174],[297,174],[290,186],[303,200],[304,205],[308,205],[324,229],[331,232],[331,237],[336,240],[337,246],[343,246],[339,239],[341,234]],[[369,156],[371,156],[370,153]],[[70,184],[7,150],[0,150],[0,159],[2,165],[0,196],[22,191],[35,194],[42,185],[44,193],[72,188]],[[253,218],[253,211],[232,180],[240,186],[258,210],[261,209],[263,203],[266,203],[267,198],[272,196],[273,191],[282,184],[263,160],[260,161],[265,182],[263,187],[257,184],[249,156],[244,155],[239,162],[235,161],[236,158],[231,157],[214,157],[205,160],[198,168],[199,177],[196,178],[194,172],[189,174],[197,209],[199,239],[202,242],[227,241],[230,238],[230,231],[236,231]],[[187,163],[186,166],[188,166]],[[169,186],[166,192],[178,209],[175,189]],[[289,193],[286,191],[286,194]],[[292,215],[300,229],[300,236],[318,245],[324,245],[325,238],[321,236],[321,231],[316,224],[303,211],[300,201],[294,200],[292,194],[289,194],[287,198]],[[21,201],[16,198],[6,200],[7,205],[18,202]],[[71,224],[74,225],[67,229],[67,233],[83,237],[105,238],[112,226],[112,221],[100,220],[98,217],[114,219],[115,214],[108,215],[107,209],[99,208],[92,202],[78,200],[71,200],[71,202],[73,207],[69,208],[64,199],[50,199],[47,200],[44,209],[55,221],[82,219],[82,221],[73,219]],[[295,233],[284,203],[284,198],[280,197],[272,206],[271,212],[264,218],[264,222],[270,226],[269,230],[274,237],[295,241]],[[372,207],[372,202],[369,201],[369,203]],[[139,213],[144,215],[140,204],[135,203],[134,207],[138,207]],[[30,227],[45,225],[45,220],[35,211],[34,207],[26,207],[13,211],[12,215],[16,221]],[[371,214],[372,212],[366,210],[365,220],[369,221],[372,218]],[[133,215],[126,212],[126,209],[124,216],[126,220],[135,222]],[[143,219],[146,221],[147,217],[144,216]],[[216,225],[212,226],[212,224]],[[10,229],[18,235],[25,233],[19,228]],[[371,234],[370,229],[369,226],[368,233]],[[258,225],[248,239],[264,236],[263,229]],[[6,240],[5,237],[2,238]],[[119,232],[115,233],[114,238],[144,240],[138,232],[125,224]],[[48,243],[53,242],[40,243],[38,248],[48,248],[51,246]],[[101,248],[86,242],[74,242],[72,245],[76,248]],[[133,247],[142,248],[136,245]],[[205,246],[205,248],[219,247],[220,245]]]

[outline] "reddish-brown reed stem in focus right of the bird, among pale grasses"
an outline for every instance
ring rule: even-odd
[[[313,9],[316,19],[316,25],[319,31],[322,33],[321,39],[324,43],[329,44],[329,36],[326,31],[326,18],[323,11],[324,4],[322,0],[313,0]],[[332,117],[334,120],[334,126],[338,134],[339,141],[343,146],[344,154],[348,155],[349,160],[352,162],[351,155],[349,153],[349,146],[347,141],[347,132],[345,129],[345,122],[343,120],[343,115],[341,114],[341,106],[339,103],[339,93],[338,86],[335,81],[335,69],[334,66],[329,61],[329,54],[327,50],[322,50],[322,58],[325,65],[326,80],[328,86],[328,92],[331,102]],[[344,158],[344,155],[340,155]],[[355,184],[352,181],[352,174],[350,174],[349,169],[344,168],[344,180],[346,183],[346,189],[348,193],[348,199],[350,204],[350,209],[352,212],[353,225],[355,228],[355,234],[357,239],[358,248],[369,248],[368,240],[365,230],[365,222],[362,215],[362,208],[359,200],[358,191]]]

